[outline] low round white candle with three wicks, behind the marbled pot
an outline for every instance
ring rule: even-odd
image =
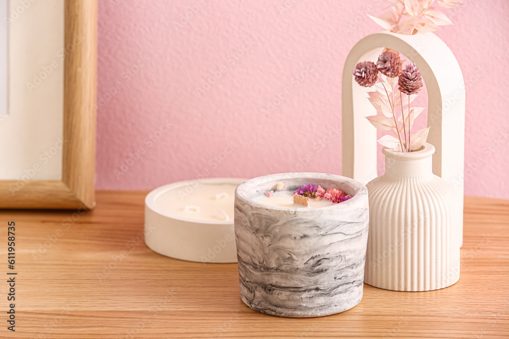
[[[188,180],[153,190],[145,198],[145,243],[176,259],[237,262],[234,192],[244,180]]]

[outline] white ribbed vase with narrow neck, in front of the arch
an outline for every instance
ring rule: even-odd
[[[432,172],[435,147],[383,148],[385,174],[366,184],[370,230],[364,282],[393,291],[430,291],[460,279],[460,203]]]

